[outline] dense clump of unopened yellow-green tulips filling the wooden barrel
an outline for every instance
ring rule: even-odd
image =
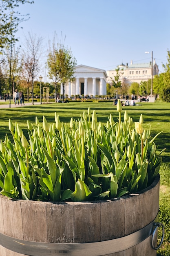
[[[135,122],[124,113],[118,100],[118,122],[108,116],[97,123],[95,110],[70,127],[43,117],[42,126],[27,121],[29,141],[19,124],[9,119],[13,142],[6,135],[0,142],[1,194],[10,198],[50,201],[87,201],[121,197],[149,186],[159,172],[161,153],[156,154],[150,129],[142,128],[143,117]],[[55,130],[55,127],[57,130]]]

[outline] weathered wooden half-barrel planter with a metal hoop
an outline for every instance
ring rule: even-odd
[[[158,211],[159,175],[147,189],[114,200],[53,203],[1,195],[0,256],[156,256]]]

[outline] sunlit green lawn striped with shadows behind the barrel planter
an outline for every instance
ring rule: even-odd
[[[55,112],[60,116],[60,121],[69,124],[71,117],[74,119],[80,118],[85,110],[87,113],[88,107],[91,110],[96,110],[97,119],[102,123],[106,123],[108,116],[113,115],[114,121],[117,121],[118,112],[116,106],[112,102],[71,102],[71,103],[49,103],[42,105],[24,106],[20,108],[4,108],[0,109],[0,139],[3,140],[6,133],[9,138],[10,132],[8,129],[9,118],[15,124],[17,121],[25,134],[27,119],[35,123],[35,116],[39,121],[42,121],[43,115],[46,117],[49,124],[53,124]],[[139,121],[140,115],[144,117],[144,128],[151,126],[151,135],[154,137],[158,132],[163,131],[156,139],[156,144],[159,145],[158,151],[166,148],[163,153],[163,165],[161,166],[161,186],[160,186],[160,222],[165,226],[165,238],[161,249],[157,251],[159,256],[170,255],[170,103],[155,102],[155,103],[139,103],[139,106],[123,107],[122,120],[124,111],[127,110],[128,115],[133,121]],[[26,134],[25,134],[26,135]]]

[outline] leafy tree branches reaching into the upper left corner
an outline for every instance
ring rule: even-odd
[[[15,11],[19,4],[33,3],[29,0],[0,0],[0,48],[11,45],[18,39],[15,37],[18,25],[25,18],[20,18],[20,13]],[[28,14],[27,14],[28,16]],[[22,16],[23,17],[23,16]]]

